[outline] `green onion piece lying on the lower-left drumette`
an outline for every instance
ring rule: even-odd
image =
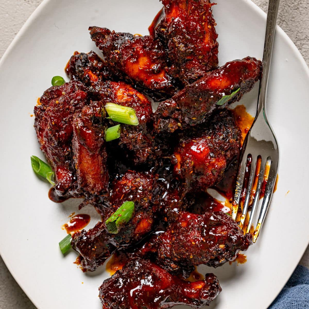
[[[117,234],[121,227],[133,217],[134,202],[124,202],[106,221],[106,227],[112,234]]]

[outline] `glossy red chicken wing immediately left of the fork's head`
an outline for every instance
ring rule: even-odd
[[[239,153],[241,132],[232,113],[223,110],[191,135],[180,139],[174,150],[174,176],[186,192],[205,191],[223,178],[231,159]]]

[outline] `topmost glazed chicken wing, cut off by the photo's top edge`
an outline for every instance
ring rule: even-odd
[[[209,0],[162,0],[150,34],[159,38],[171,60],[171,74],[190,84],[218,67],[218,42]]]

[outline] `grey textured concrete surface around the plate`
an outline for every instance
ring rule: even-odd
[[[267,0],[253,0],[267,11]],[[41,0],[0,0],[0,57]],[[281,0],[278,23],[309,65],[309,0]],[[309,248],[300,264],[309,267]],[[53,295],[51,295],[53,297]],[[35,309],[0,257],[0,308]]]

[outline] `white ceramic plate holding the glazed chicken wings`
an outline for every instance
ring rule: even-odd
[[[217,2],[220,64],[247,55],[261,58],[265,14],[249,0]],[[158,0],[45,0],[1,59],[0,251],[40,309],[102,308],[98,287],[106,274],[104,267],[83,273],[72,264],[74,252],[63,257],[59,250],[58,242],[65,236],[61,225],[77,201],[62,205],[49,201],[49,185],[32,171],[30,156],[43,158],[30,117],[33,106],[54,75],[64,76],[63,68],[75,50],[95,50],[88,26],[147,34],[160,8]],[[278,188],[260,238],[248,251],[248,262],[210,270],[223,289],[212,308],[267,308],[307,247],[309,207],[302,193],[307,193],[309,175],[308,83],[305,61],[277,28],[268,116],[281,150]],[[253,114],[256,95],[257,87],[241,101]]]

